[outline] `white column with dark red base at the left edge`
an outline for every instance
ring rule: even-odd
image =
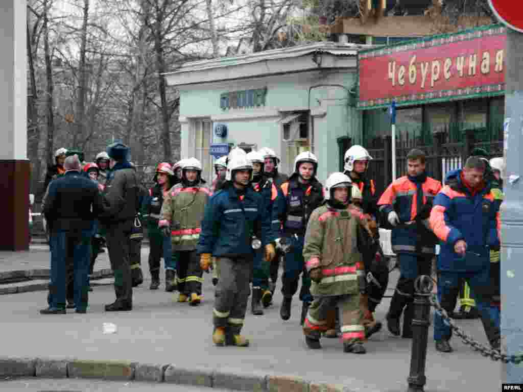
[[[27,2],[0,0],[0,250],[29,247]]]

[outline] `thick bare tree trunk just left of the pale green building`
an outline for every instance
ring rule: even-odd
[[[165,86],[165,60],[163,57],[162,45],[162,19],[160,9],[156,7],[156,21],[154,31],[154,50],[156,52],[156,72],[158,74],[158,90],[160,92],[161,112],[162,112],[162,133],[160,140],[164,149],[164,161],[171,162],[172,151],[170,147],[170,132],[169,132],[169,110],[167,108],[167,94]]]

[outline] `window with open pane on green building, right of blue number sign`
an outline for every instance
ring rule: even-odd
[[[282,113],[283,162],[289,174],[294,171],[294,159],[304,151],[314,152],[314,137],[310,131],[309,112]]]

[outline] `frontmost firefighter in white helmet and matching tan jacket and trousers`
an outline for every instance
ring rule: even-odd
[[[313,281],[314,302],[303,333],[310,349],[320,349],[328,314],[338,307],[344,351],[364,354],[360,295],[365,292],[366,279],[358,232],[369,228],[364,215],[349,208],[351,187],[348,176],[331,174],[325,182],[326,203],[314,210],[307,225],[303,256]]]

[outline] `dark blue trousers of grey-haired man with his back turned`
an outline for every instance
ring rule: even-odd
[[[50,307],[65,308],[69,290],[67,276],[71,274],[70,290],[73,293],[69,294],[69,299],[76,304],[76,309],[87,308],[91,235],[91,230],[59,231],[51,234],[51,282],[48,296]],[[68,257],[68,251],[71,251],[72,257]]]

